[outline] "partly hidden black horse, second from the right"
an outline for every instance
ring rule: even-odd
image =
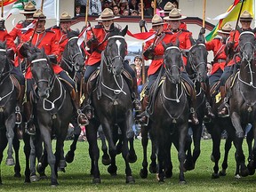
[[[195,168],[196,160],[201,152],[200,143],[206,102],[205,92],[207,92],[207,86],[205,85],[207,79],[207,55],[208,52],[204,44],[204,36],[199,36],[196,40],[196,44],[188,51],[188,63],[186,66],[188,76],[193,81],[196,88],[196,114],[199,120],[199,124],[189,124],[193,131],[194,150],[192,155],[190,147],[192,140],[188,135],[188,146],[186,147],[188,151],[185,163],[185,169],[188,171]]]

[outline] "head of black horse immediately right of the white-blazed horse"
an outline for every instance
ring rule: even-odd
[[[180,84],[181,68],[183,68],[182,52],[180,48],[172,44],[164,44],[164,65],[166,76],[172,84]]]

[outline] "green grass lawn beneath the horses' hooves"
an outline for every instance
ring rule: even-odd
[[[68,151],[71,141],[65,142],[65,152]],[[59,173],[59,186],[57,188],[50,187],[50,180],[40,180],[31,184],[24,184],[24,155],[20,151],[20,159],[22,166],[22,178],[13,178],[13,167],[5,165],[6,150],[4,151],[4,161],[1,165],[2,180],[4,185],[0,186],[0,191],[255,191],[256,178],[248,176],[240,180],[235,179],[235,159],[234,148],[229,153],[229,166],[226,177],[212,180],[213,163],[210,160],[212,152],[212,140],[202,140],[201,155],[196,164],[196,169],[191,172],[185,172],[187,185],[179,184],[179,164],[177,151],[172,148],[173,176],[172,179],[166,179],[164,183],[158,183],[156,174],[148,174],[148,179],[140,179],[140,168],[142,163],[142,147],[140,140],[135,140],[135,149],[138,161],[132,164],[132,172],[135,178],[134,185],[125,184],[124,160],[122,156],[117,156],[116,162],[118,166],[117,176],[111,177],[108,172],[108,166],[101,164],[100,173],[101,184],[92,184],[90,176],[90,157],[88,155],[88,142],[79,142],[76,149],[75,160],[72,164],[68,164],[66,172]],[[247,149],[244,151],[247,156]],[[224,140],[221,142],[221,159],[223,159]],[[149,155],[149,153],[148,153]],[[101,156],[101,155],[100,155]],[[220,164],[221,165],[221,164]],[[46,174],[50,176],[50,169],[47,167]]]

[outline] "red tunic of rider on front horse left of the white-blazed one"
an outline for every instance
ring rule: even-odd
[[[24,36],[21,36],[21,42],[28,42],[32,34],[33,30],[28,30]],[[55,33],[51,30],[44,30],[42,33],[35,33],[31,43],[36,45],[39,49],[44,48],[46,55],[54,54],[57,56],[57,59],[60,57],[60,46]],[[52,68],[55,74],[59,74],[63,70],[59,65],[52,65]],[[25,78],[32,78],[30,67],[27,68]]]

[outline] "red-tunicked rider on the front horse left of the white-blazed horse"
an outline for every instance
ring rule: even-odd
[[[31,44],[35,45],[36,47],[44,48],[44,52],[46,55],[48,55],[50,61],[52,62],[52,68],[55,74],[60,76],[61,78],[68,81],[69,84],[73,86],[73,88],[76,90],[76,86],[74,81],[68,76],[68,74],[60,68],[59,65],[57,65],[58,57],[60,57],[60,46],[58,44],[58,41],[56,39],[56,35],[51,30],[45,30],[45,23],[46,23],[46,17],[44,13],[41,10],[37,10],[33,14],[33,19],[38,20],[36,28],[30,29],[27,31],[24,36],[21,36],[21,43],[19,45],[19,54],[20,57],[24,57],[26,54],[24,54],[24,46],[23,44],[28,44],[27,42],[31,39]],[[33,36],[33,32],[36,30],[36,33]],[[32,73],[30,68],[27,68],[26,74],[25,74],[26,82],[27,82],[27,99],[28,101],[25,103],[25,110],[26,110],[26,116],[27,116],[27,131],[28,134],[36,134],[36,127],[32,123],[32,102],[29,100],[29,92],[33,89],[34,81],[32,79]],[[74,108],[76,110],[76,104],[73,102]],[[74,111],[75,111],[74,110]],[[77,116],[77,115],[76,115]],[[84,114],[78,116],[78,122],[80,124],[84,124],[86,121]]]

